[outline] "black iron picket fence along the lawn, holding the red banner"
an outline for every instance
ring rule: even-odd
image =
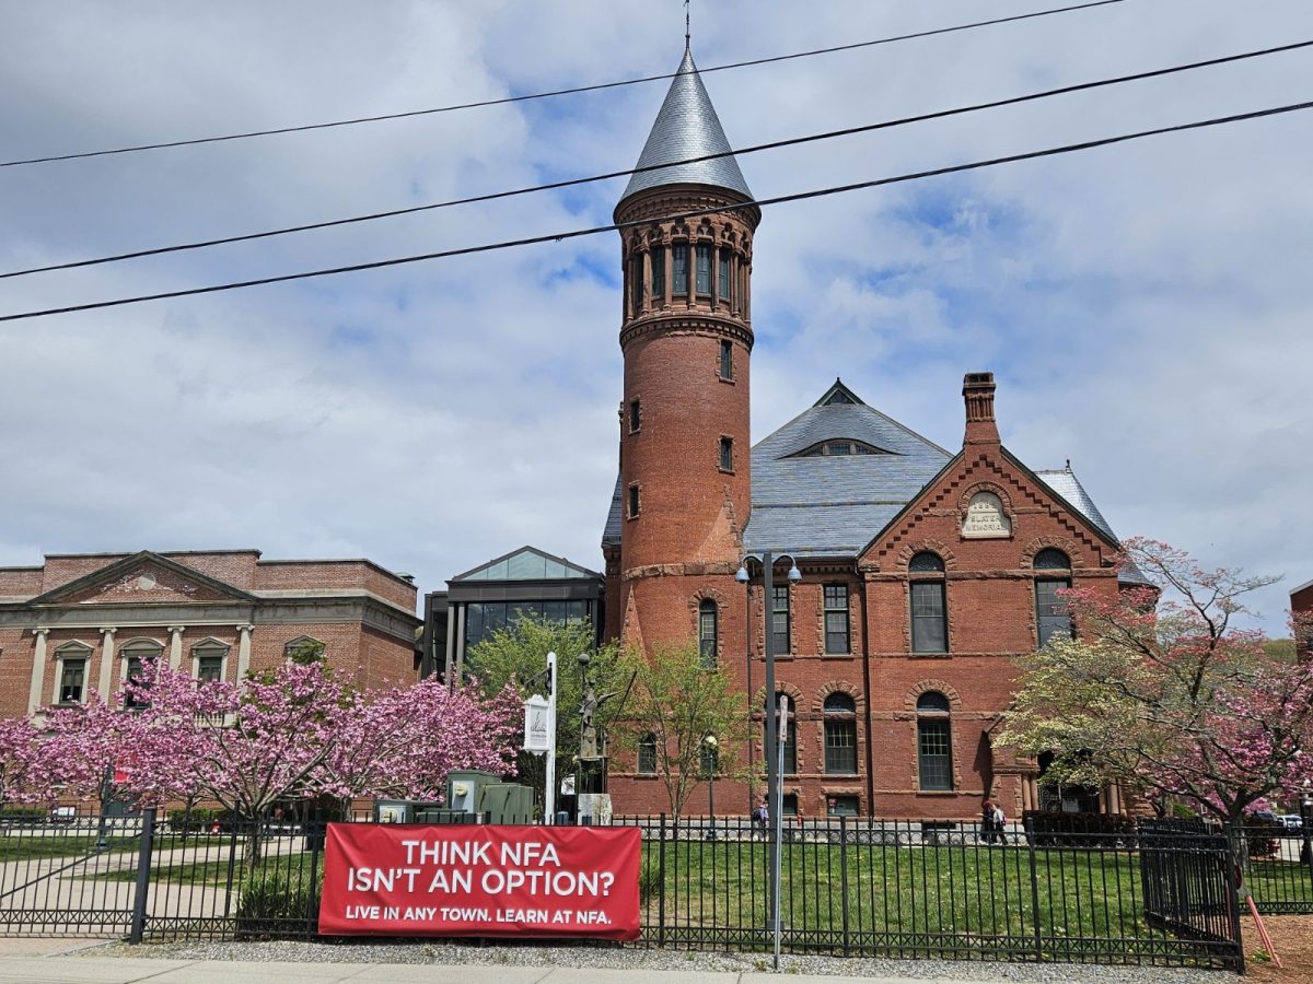
[[[0,933],[316,934],[324,820],[151,819],[0,827]],[[642,830],[638,946],[771,947],[764,828],[614,823]],[[1313,912],[1306,837],[1263,836],[1275,849],[1247,828],[790,819],[781,942],[794,953],[1238,968],[1241,854],[1262,909]]]

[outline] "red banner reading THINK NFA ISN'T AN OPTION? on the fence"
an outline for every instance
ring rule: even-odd
[[[330,824],[323,935],[638,938],[635,827]]]

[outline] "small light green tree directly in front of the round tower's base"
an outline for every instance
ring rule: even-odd
[[[720,669],[705,669],[696,643],[662,647],[646,657],[626,653],[634,677],[624,718],[614,724],[618,744],[637,753],[647,735],[655,737],[656,775],[678,820],[684,803],[706,777],[702,769],[708,735],[718,744],[717,775],[739,777],[733,749],[747,741],[750,726],[743,694]]]

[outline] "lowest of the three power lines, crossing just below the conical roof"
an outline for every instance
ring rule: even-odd
[[[370,262],[351,264],[349,266],[331,266],[320,270],[303,270],[301,273],[284,273],[276,277],[260,277],[248,281],[234,281],[230,283],[214,283],[207,287],[186,287],[184,290],[171,290],[160,294],[139,294],[130,298],[117,298],[114,300],[95,300],[88,304],[70,304],[67,307],[51,307],[42,311],[24,311],[16,315],[0,315],[0,321],[18,321],[28,318],[46,318],[49,315],[66,315],[76,311],[93,311],[102,307],[121,307],[123,304],[139,304],[146,300],[167,300],[169,298],[184,298],[192,297],[194,294],[215,294],[226,290],[240,290],[244,287],[259,287],[268,283],[286,283],[289,281],[303,281],[312,277],[330,277],[339,273],[357,273],[360,270],[376,270],[383,266],[399,266],[402,264],[421,262],[424,260],[444,260],[453,256],[473,256],[475,253],[490,253],[500,249],[512,249],[516,247],[536,245],[541,243],[561,243],[566,239],[579,239],[582,236],[593,236],[600,232],[616,232],[625,228],[633,228],[635,226],[650,226],[654,222],[670,222],[678,219],[695,219],[704,215],[717,215],[726,211],[742,211],[743,209],[764,207],[768,205],[783,205],[785,202],[801,202],[810,198],[823,198],[832,194],[844,194],[847,192],[857,192],[867,188],[880,188],[882,185],[895,185],[905,181],[918,181],[927,177],[939,177],[943,174],[957,174],[964,171],[978,171],[981,168],[997,167],[1001,164],[1014,164],[1022,160],[1033,160],[1036,157],[1053,157],[1061,154],[1073,154],[1075,151],[1087,151],[1095,147],[1107,147],[1115,143],[1127,143],[1128,140],[1138,140],[1146,136],[1158,136],[1162,134],[1180,133],[1183,130],[1200,130],[1211,126],[1221,126],[1224,123],[1238,123],[1246,119],[1259,119],[1263,117],[1279,115],[1283,113],[1293,113],[1301,109],[1313,109],[1313,101],[1308,102],[1293,102],[1285,106],[1274,106],[1270,109],[1259,109],[1250,113],[1237,113],[1228,117],[1215,117],[1212,119],[1200,119],[1192,123],[1176,123],[1174,126],[1159,126],[1153,130],[1140,130],[1130,134],[1119,134],[1117,136],[1103,136],[1096,140],[1083,140],[1081,143],[1069,143],[1060,147],[1048,147],[1041,151],[1028,151],[1025,154],[1011,154],[1004,157],[990,157],[989,160],[977,160],[969,164],[953,164],[945,168],[934,168],[931,171],[918,171],[910,174],[898,174],[897,177],[881,177],[871,181],[857,181],[850,185],[832,185],[830,188],[814,189],[810,192],[797,192],[794,194],[776,195],[773,198],[758,198],[754,201],[739,202],[737,205],[723,205],[714,209],[697,209],[695,211],[676,213],[672,215],[663,215],[656,218],[637,219],[634,222],[621,222],[613,223],[611,226],[592,226],[590,228],[567,230],[565,232],[549,232],[544,236],[527,236],[524,239],[509,239],[502,240],[499,243],[486,243],[477,247],[461,247],[458,249],[442,249],[433,253],[419,253],[416,256],[399,256],[391,260],[373,260]]]

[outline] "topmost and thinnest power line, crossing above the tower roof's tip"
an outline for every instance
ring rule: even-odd
[[[893,45],[899,41],[914,41],[916,38],[931,38],[939,34],[953,34],[962,30],[973,30],[976,28],[990,28],[998,24],[1012,24],[1015,21],[1028,21],[1036,17],[1049,17],[1058,13],[1071,13],[1074,10],[1087,10],[1094,7],[1107,7],[1109,4],[1120,4],[1125,0],[1092,0],[1091,3],[1073,4],[1070,7],[1054,7],[1046,10],[1032,10],[1031,13],[1019,13],[1010,17],[994,17],[987,21],[973,21],[970,24],[956,24],[951,28],[934,28],[930,30],[913,31],[911,34],[895,34],[888,38],[876,38],[873,41],[857,41],[851,45],[835,45],[832,47],[813,49],[810,51],[793,51],[786,55],[772,55],[769,58],[754,58],[747,62],[731,62],[729,64],[712,66],[710,68],[699,70],[700,73],[706,75],[708,72],[725,72],[731,68],[748,68],[751,66],[759,64],[773,64],[775,62],[789,62],[797,58],[811,58],[814,55],[831,55],[838,51],[853,51],[863,47],[874,47],[876,45]],[[200,143],[223,143],[226,140],[246,140],[252,136],[274,136],[277,134],[297,134],[305,133],[307,130],[328,130],[339,126],[356,126],[357,123],[377,123],[387,119],[406,119],[408,117],[423,117],[433,115],[436,113],[454,113],[462,109],[482,109],[484,106],[503,106],[511,102],[529,102],[532,100],[553,98],[555,96],[574,96],[583,92],[599,92],[601,89],[618,89],[625,85],[639,85],[643,83],[660,81],[662,79],[675,79],[679,72],[668,72],[664,75],[643,75],[637,79],[622,79],[618,81],[609,83],[596,83],[593,85],[576,85],[569,89],[553,89],[551,92],[533,92],[524,96],[506,96],[503,98],[495,100],[479,100],[477,102],[457,102],[449,106],[431,106],[428,109],[411,109],[403,113],[381,113],[372,117],[355,117],[352,119],[335,119],[327,123],[305,123],[302,126],[280,126],[270,130],[249,130],[247,133],[239,134],[225,134],[222,136],[197,136],[188,140],[165,140],[161,143],[142,143],[131,147],[116,147],[106,151],[81,151],[77,154],[56,154],[46,157],[28,157],[25,160],[7,160],[0,161],[0,168],[17,168],[28,164],[50,164],[59,160],[79,160],[83,157],[106,157],[116,154],[137,154],[138,151],[158,151],[168,147],[192,147]]]

